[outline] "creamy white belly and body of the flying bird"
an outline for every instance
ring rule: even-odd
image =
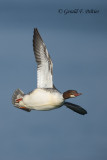
[[[64,99],[60,92],[50,92],[35,89],[30,95],[25,95],[20,106],[35,110],[52,110],[63,105]]]

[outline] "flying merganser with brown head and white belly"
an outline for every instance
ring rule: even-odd
[[[87,111],[73,103],[65,102],[66,99],[81,95],[75,90],[68,90],[63,94],[53,84],[53,63],[37,28],[34,29],[33,50],[37,62],[37,89],[24,94],[20,89],[15,90],[12,104],[22,110],[52,110],[63,105],[79,114]]]

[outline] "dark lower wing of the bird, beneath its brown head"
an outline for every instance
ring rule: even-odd
[[[84,108],[80,107],[79,105],[76,105],[76,104],[73,104],[73,103],[69,103],[69,102],[65,102],[64,105],[67,108],[69,108],[69,109],[71,109],[74,112],[77,112],[79,114],[82,114],[82,115],[87,114],[87,111]]]

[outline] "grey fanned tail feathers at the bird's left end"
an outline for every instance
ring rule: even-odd
[[[23,98],[24,96],[24,93],[23,91],[21,91],[20,89],[16,89],[13,93],[13,96],[12,96],[12,104],[19,108],[19,103],[16,102],[17,99],[20,99],[20,98]]]

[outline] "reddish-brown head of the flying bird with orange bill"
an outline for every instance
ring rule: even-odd
[[[78,93],[75,90],[68,90],[68,91],[66,91],[66,92],[63,93],[63,98],[64,99],[74,98],[74,97],[80,96],[81,94],[82,93]]]

